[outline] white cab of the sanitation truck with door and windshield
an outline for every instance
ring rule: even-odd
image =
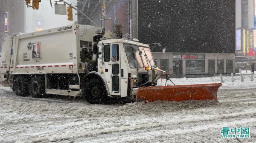
[[[104,76],[109,96],[135,96],[138,87],[151,86],[154,59],[148,45],[109,39],[98,43],[98,72]]]

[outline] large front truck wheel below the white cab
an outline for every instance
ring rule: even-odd
[[[95,80],[90,80],[83,87],[82,93],[90,104],[103,104],[108,97],[104,83]]]

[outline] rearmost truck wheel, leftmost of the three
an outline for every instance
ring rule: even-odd
[[[16,93],[17,96],[28,95],[29,87],[28,87],[27,80],[22,77],[17,77],[17,79],[14,80],[12,89]]]

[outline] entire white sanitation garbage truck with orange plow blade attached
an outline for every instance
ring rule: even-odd
[[[217,100],[221,84],[157,86],[160,75],[150,47],[138,40],[113,39],[104,29],[68,25],[6,36],[0,78],[17,96],[82,96],[91,104],[107,98],[137,101]]]

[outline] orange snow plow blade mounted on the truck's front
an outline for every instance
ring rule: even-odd
[[[136,102],[217,100],[217,91],[221,85],[221,83],[217,83],[140,87],[137,91]]]

